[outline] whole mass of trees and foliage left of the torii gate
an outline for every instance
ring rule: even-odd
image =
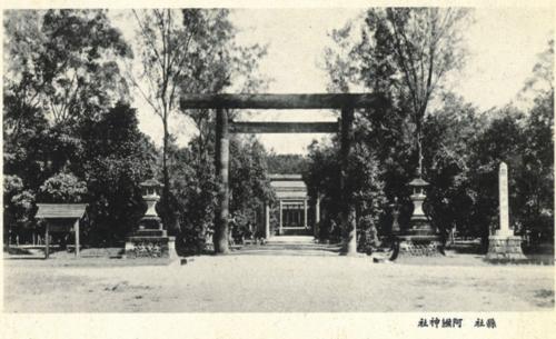
[[[169,215],[170,232],[212,228],[214,118],[207,110],[180,109],[178,98],[231,86],[255,90],[264,84],[252,70],[265,49],[236,43],[227,10],[146,10],[133,17],[143,77],[121,76],[120,66],[133,57],[131,44],[105,10],[6,13],[7,232],[33,228],[36,202],[86,202],[82,240],[121,243],[145,212],[139,183],[152,177],[168,183],[168,207],[157,209]],[[129,80],[162,118],[161,153],[127,103]],[[199,131],[183,148],[167,127],[178,109]],[[230,151],[231,211],[252,219],[257,205],[271,199],[266,152],[255,140],[234,140]]]

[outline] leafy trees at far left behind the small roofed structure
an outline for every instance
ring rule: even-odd
[[[103,10],[8,11],[4,28],[4,175],[19,178],[4,181],[4,221],[32,225],[34,202],[88,202],[99,229],[85,240],[121,240],[141,208],[123,191],[137,191],[152,149],[118,103],[128,43]]]

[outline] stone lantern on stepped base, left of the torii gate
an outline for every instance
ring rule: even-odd
[[[160,200],[158,191],[162,185],[149,179],[141,182],[140,187],[147,211],[136,230],[126,239],[126,258],[168,258],[169,238],[156,210]]]

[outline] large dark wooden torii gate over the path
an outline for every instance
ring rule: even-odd
[[[227,109],[340,109],[340,189],[344,252],[356,253],[356,216],[353,192],[347,191],[347,167],[354,139],[354,109],[375,107],[383,98],[371,93],[334,94],[185,94],[185,109],[216,109],[216,172],[219,178],[218,209],[215,216],[215,252],[228,253],[229,132],[304,133],[336,132],[337,122],[231,122]],[[231,124],[231,126],[230,126]],[[230,128],[231,127],[231,128]]]

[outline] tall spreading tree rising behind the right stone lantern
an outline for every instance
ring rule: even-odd
[[[338,52],[326,64],[331,83],[342,90],[354,84],[386,93],[408,110],[415,127],[417,176],[423,175],[423,121],[428,103],[446,74],[464,62],[461,36],[469,10],[454,8],[387,8],[368,10],[361,36],[350,48],[351,26],[332,33]]]

